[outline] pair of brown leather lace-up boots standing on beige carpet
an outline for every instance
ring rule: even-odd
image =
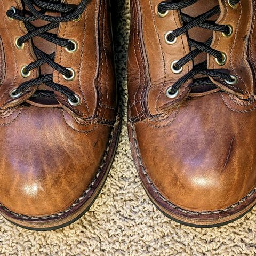
[[[181,223],[223,225],[256,203],[255,12],[255,0],[131,0],[132,155]],[[0,14],[0,211],[60,228],[92,205],[118,142],[109,3],[0,0]]]

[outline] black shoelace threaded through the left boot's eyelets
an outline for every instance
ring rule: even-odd
[[[68,50],[73,50],[74,43],[67,39],[59,38],[57,35],[49,33],[48,31],[54,28],[58,28],[60,22],[68,22],[78,19],[78,17],[80,17],[80,15],[82,15],[83,11],[85,10],[88,2],[89,0],[81,0],[81,3],[76,6],[71,4],[63,4],[60,0],[23,0],[23,4],[25,5],[23,10],[11,8],[7,11],[7,16],[12,19],[23,21],[28,30],[26,35],[18,39],[17,43],[19,46],[22,46],[30,39],[39,36],[46,41],[65,47]],[[35,6],[40,10],[38,11]],[[25,10],[25,7],[27,7],[28,10]],[[61,17],[46,15],[46,12],[59,12],[61,13]],[[31,22],[37,19],[41,19],[49,23],[42,27],[35,27],[31,24]],[[63,76],[70,78],[72,75],[70,70],[54,62],[55,52],[52,54],[46,54],[38,49],[35,45],[33,45],[33,50],[37,56],[37,60],[26,66],[25,70],[23,70],[24,74],[29,74],[31,70],[39,68],[40,66],[47,63],[47,65],[57,70]],[[40,84],[45,84],[54,91],[60,92],[61,94],[65,95],[71,102],[77,102],[77,98],[75,97],[74,92],[63,85],[53,82],[53,74],[39,75],[38,78],[31,79],[30,81],[20,84],[19,87],[15,90],[14,95],[19,95],[20,93],[31,89],[31,87],[39,86]],[[33,97],[55,98],[54,93],[47,90],[37,90]]]

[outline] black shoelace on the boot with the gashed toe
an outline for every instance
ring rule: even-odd
[[[161,2],[158,5],[158,11],[159,13],[165,13],[169,10],[181,10],[183,8],[186,8],[188,6],[191,6],[195,4],[198,0],[176,0],[176,1],[164,1]],[[230,0],[230,3],[232,5],[236,5],[239,3],[240,0]],[[188,30],[194,27],[201,27],[204,29],[214,30],[214,31],[220,31],[225,34],[230,33],[230,28],[227,25],[218,25],[215,22],[208,21],[209,18],[213,17],[216,14],[220,13],[220,7],[215,6],[210,11],[207,11],[206,13],[199,15],[198,17],[190,17],[189,15],[186,15],[182,12],[180,12],[181,19],[183,22],[183,27],[175,29],[170,33],[167,37],[167,39],[171,42],[174,41],[175,38],[182,35],[183,33],[187,33]],[[189,54],[187,54],[185,57],[180,59],[177,63],[173,65],[174,69],[181,69],[186,63],[188,63],[191,60],[194,60],[194,58],[199,55],[202,52],[208,53],[215,57],[219,62],[223,61],[223,55],[221,52],[214,50],[210,47],[212,42],[212,37],[209,38],[205,43],[194,41],[193,39],[188,39],[188,43],[190,48],[194,48],[194,50],[191,50]],[[196,75],[203,75],[207,76],[205,78],[197,78],[195,79]],[[214,83],[210,80],[208,77],[214,77],[214,78],[220,78],[223,79],[224,82],[234,82],[234,77],[231,77],[227,73],[222,73],[217,70],[210,70],[207,69],[207,61],[204,61],[202,63],[199,63],[198,65],[195,65],[194,68],[189,71],[185,76],[181,77],[176,83],[174,83],[168,90],[170,95],[175,95],[177,93],[177,90],[179,90],[180,86],[190,79],[193,79],[193,83],[191,86],[198,86],[198,85],[209,85],[209,86],[215,86]]]

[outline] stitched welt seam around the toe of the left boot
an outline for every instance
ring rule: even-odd
[[[100,167],[98,169],[98,172],[97,174],[95,175],[94,179],[92,180],[92,182],[90,183],[90,185],[87,187],[87,189],[84,191],[84,193],[81,195],[81,197],[79,197],[70,207],[68,207],[68,209],[66,209],[65,211],[62,211],[62,212],[59,212],[59,213],[56,213],[56,214],[52,214],[52,215],[48,215],[48,216],[43,216],[43,217],[36,217],[36,216],[27,216],[27,215],[23,215],[23,214],[18,214],[18,213],[15,213],[13,211],[10,211],[9,209],[7,209],[4,205],[2,205],[0,203],[0,209],[2,209],[3,211],[5,212],[8,212],[9,214],[13,215],[14,217],[19,217],[23,220],[49,220],[49,219],[53,219],[55,220],[56,218],[60,218],[63,214],[65,213],[68,213],[70,212],[78,203],[80,203],[81,201],[83,201],[83,199],[85,198],[86,194],[89,193],[89,191],[92,189],[94,183],[96,182],[96,180],[98,179],[101,171],[102,171],[102,168],[105,166],[106,164],[106,158],[107,158],[107,155],[108,155],[108,151],[110,149],[110,145],[113,141],[113,133],[115,131],[114,127],[116,125],[118,125],[120,122],[120,118],[119,118],[119,114],[117,114],[117,118],[116,118],[116,122],[115,124],[113,125],[113,129],[110,133],[110,137],[109,137],[109,141],[108,141],[108,145],[107,145],[107,149],[105,151],[105,154],[103,156],[103,159],[102,159],[102,162],[100,164]],[[86,201],[85,201],[86,202]]]

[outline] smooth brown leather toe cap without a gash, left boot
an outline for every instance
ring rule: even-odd
[[[11,110],[0,129],[1,204],[28,216],[64,211],[84,193],[111,132],[107,125],[79,124],[60,108],[35,106]]]

